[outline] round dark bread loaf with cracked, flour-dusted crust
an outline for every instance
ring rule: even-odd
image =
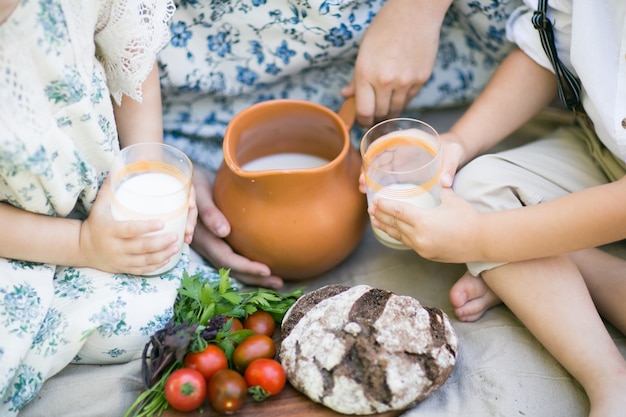
[[[343,414],[411,407],[443,385],[456,362],[456,333],[442,310],[366,285],[305,294],[281,336],[289,382]]]

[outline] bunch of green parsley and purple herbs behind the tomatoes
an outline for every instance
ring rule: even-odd
[[[181,368],[188,352],[200,352],[208,343],[220,346],[231,362],[235,345],[252,332],[231,331],[232,318],[245,319],[257,310],[267,311],[280,323],[302,290],[282,294],[258,288],[238,291],[232,286],[230,270],[219,270],[219,281],[183,273],[172,319],[155,332],[142,354],[146,391],[128,409],[125,417],[153,417],[168,408],[163,393],[167,377]]]

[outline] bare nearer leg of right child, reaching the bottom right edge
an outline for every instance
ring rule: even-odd
[[[581,383],[590,399],[590,416],[623,415],[626,361],[572,258],[506,264],[485,271],[483,279]]]

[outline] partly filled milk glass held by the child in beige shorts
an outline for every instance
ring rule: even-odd
[[[422,208],[439,205],[441,143],[430,125],[395,118],[378,123],[361,140],[367,203],[375,197],[404,201]],[[376,238],[394,249],[409,249],[380,229]]]

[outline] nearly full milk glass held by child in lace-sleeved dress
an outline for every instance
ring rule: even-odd
[[[160,219],[165,227],[153,233],[178,234],[178,254],[159,275],[178,263],[183,247],[193,165],[180,150],[162,143],[138,143],[123,148],[111,167],[111,211],[116,220]]]

